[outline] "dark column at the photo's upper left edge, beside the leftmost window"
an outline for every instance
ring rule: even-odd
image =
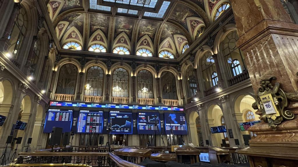
[[[13,26],[15,24],[15,17],[17,16],[18,10],[20,9],[20,7],[21,7],[20,2],[17,2],[14,4],[13,12],[11,13],[9,21],[7,22],[3,37],[0,39],[0,46],[1,46],[0,50],[1,51],[7,51],[8,47],[11,45],[9,43],[8,37],[9,37],[11,31],[13,31]]]

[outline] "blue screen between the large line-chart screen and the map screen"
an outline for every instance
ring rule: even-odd
[[[159,118],[158,112],[138,112],[138,134],[152,135],[155,123],[157,125],[156,130],[160,130]],[[156,134],[159,135],[159,132]]]

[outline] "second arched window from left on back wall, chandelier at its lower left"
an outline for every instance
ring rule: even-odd
[[[103,96],[103,69],[92,66],[87,71],[85,96]]]

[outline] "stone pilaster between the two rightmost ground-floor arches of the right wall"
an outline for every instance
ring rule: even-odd
[[[233,107],[231,107],[231,103],[229,100],[229,95],[224,95],[222,97],[219,97],[219,100],[221,101],[222,105],[222,112],[224,114],[224,120],[226,122],[226,130],[227,130],[227,135],[229,138],[229,144],[230,146],[236,146],[235,145],[235,140],[234,139],[239,139],[241,141],[242,135],[241,131],[238,127],[238,123],[235,121],[232,115],[232,111],[234,110]],[[230,138],[229,136],[229,129],[232,129],[233,133],[233,138]],[[240,144],[241,146],[242,144]]]

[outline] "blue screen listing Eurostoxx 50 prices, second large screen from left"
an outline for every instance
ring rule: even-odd
[[[77,133],[103,133],[103,111],[80,110]]]

